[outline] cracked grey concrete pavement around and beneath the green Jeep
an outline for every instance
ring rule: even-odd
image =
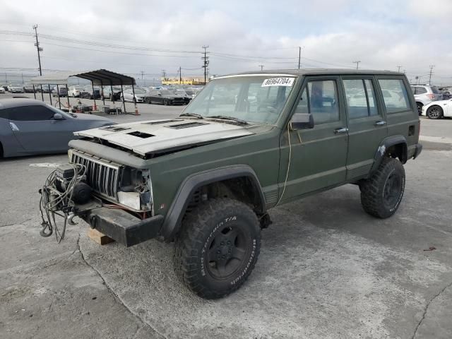
[[[142,106],[112,119],[182,109]],[[66,155],[1,160],[0,338],[452,338],[452,119],[421,119],[396,215],[369,217],[352,185],[270,210],[254,272],[216,301],[179,283],[173,244],[99,246],[83,222],[40,237],[36,164]]]

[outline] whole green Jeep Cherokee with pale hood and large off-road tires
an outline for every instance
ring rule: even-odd
[[[175,242],[201,297],[237,290],[256,265],[268,210],[343,184],[393,215],[420,120],[407,78],[388,71],[283,70],[220,76],[179,117],[77,132],[71,165],[42,189],[44,228],[62,210],[126,246]],[[50,216],[50,218],[49,218]]]

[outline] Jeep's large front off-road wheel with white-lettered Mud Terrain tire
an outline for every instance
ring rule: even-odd
[[[232,230],[239,234],[242,232],[242,260],[232,258],[234,249],[239,248],[239,236],[234,244],[225,242],[222,246],[223,237],[227,237]],[[228,251],[231,253],[231,246],[234,249],[232,254],[228,254]],[[185,216],[182,231],[176,239],[174,270],[198,296],[218,299],[234,292],[245,282],[256,265],[260,248],[261,227],[253,210],[231,198],[211,199]],[[209,261],[209,254],[212,253],[216,257],[230,256],[226,260],[220,258],[220,261],[227,262],[225,267],[232,265],[231,273],[224,278],[215,276],[217,262]]]

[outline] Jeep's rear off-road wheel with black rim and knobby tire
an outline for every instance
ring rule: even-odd
[[[388,184],[397,184],[393,193],[388,194]],[[369,179],[359,184],[362,208],[376,218],[389,218],[396,213],[405,191],[405,169],[399,160],[383,157],[379,168]],[[385,196],[386,192],[386,196]]]

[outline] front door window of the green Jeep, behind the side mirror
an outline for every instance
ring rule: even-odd
[[[311,113],[316,125],[339,121],[338,90],[335,81],[309,81],[295,113]]]

